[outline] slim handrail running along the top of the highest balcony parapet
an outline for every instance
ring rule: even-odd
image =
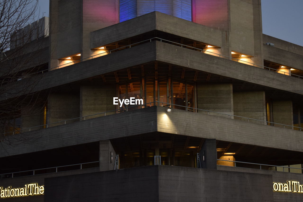
[[[278,71],[278,72],[283,72],[283,71],[281,71],[281,70],[277,70],[277,69],[274,69],[274,68],[266,67],[266,66],[263,66],[263,65],[258,65],[258,64],[252,63],[252,62],[247,62],[247,61],[244,61],[244,60],[241,60],[241,59],[236,59],[236,58],[233,58],[233,57],[230,57],[230,56],[221,55],[221,54],[219,54],[219,53],[210,52],[210,51],[207,51],[207,50],[195,48],[195,47],[192,47],[192,46],[189,46],[189,45],[184,45],[184,44],[177,43],[177,42],[173,42],[173,41],[169,41],[169,40],[166,40],[166,39],[161,39],[161,38],[158,38],[158,37],[153,37],[153,38],[151,38],[151,39],[146,39],[146,40],[143,40],[143,41],[140,41],[140,42],[136,42],[136,43],[132,43],[132,44],[129,44],[129,45],[125,45],[125,46],[122,46],[122,47],[119,47],[119,48],[116,48],[116,49],[112,49],[112,50],[110,50],[110,51],[98,53],[98,54],[93,55],[93,56],[89,56],[89,57],[86,57],[86,58],[78,59],[78,60],[75,60],[75,61],[73,61],[73,62],[68,62],[68,63],[65,63],[65,64],[63,64],[63,65],[55,66],[55,67],[52,67],[52,68],[47,69],[47,70],[41,70],[41,71],[38,71],[38,72],[35,72],[35,73],[32,73],[32,74],[28,74],[28,75],[24,75],[24,76],[30,76],[30,75],[37,74],[37,73],[40,73],[40,72],[43,73],[44,71],[47,72],[48,70],[51,70],[51,69],[60,69],[60,68],[59,68],[60,66],[66,66],[67,64],[75,63],[75,62],[78,62],[78,61],[81,62],[81,61],[84,60],[84,59],[89,59],[89,58],[93,59],[93,57],[95,57],[95,56],[102,55],[102,54],[104,54],[104,53],[112,53],[112,51],[115,51],[115,50],[119,50],[119,49],[123,49],[123,48],[128,48],[128,47],[131,48],[132,45],[136,45],[136,44],[139,44],[139,43],[142,43],[142,42],[148,42],[148,41],[151,42],[153,39],[159,39],[161,42],[164,41],[164,42],[170,42],[170,43],[178,44],[178,45],[181,45],[181,47],[185,46],[185,47],[189,47],[189,48],[191,48],[191,49],[200,50],[201,52],[204,51],[204,52],[209,52],[209,53],[212,53],[212,54],[216,54],[216,55],[218,55],[219,58],[221,58],[221,56],[224,56],[224,57],[227,57],[227,58],[229,58],[229,59],[235,59],[235,60],[237,60],[237,62],[240,60],[241,62],[243,62],[243,64],[245,64],[245,63],[251,64],[250,66],[254,66],[254,67],[255,67],[255,65],[256,65],[256,67],[264,67],[264,68],[266,68],[266,69],[275,70],[276,72],[277,72],[277,71]],[[296,74],[293,74],[293,73],[288,73],[288,72],[283,72],[283,73],[284,73],[284,75],[289,74],[289,75],[293,75],[293,76],[298,76],[298,78],[300,78],[300,79],[302,78],[302,79],[303,79],[303,76],[299,76],[299,75],[296,75]],[[280,73],[280,74],[282,74],[282,73]],[[287,76],[288,76],[288,75],[287,75]]]

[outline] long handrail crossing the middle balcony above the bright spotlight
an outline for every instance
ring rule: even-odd
[[[47,128],[48,125],[52,125],[52,124],[55,124],[55,123],[62,123],[62,122],[64,122],[64,124],[66,124],[66,121],[75,120],[75,119],[82,119],[82,118],[84,118],[84,120],[85,120],[85,117],[95,116],[95,115],[100,115],[100,114],[104,114],[104,116],[106,116],[106,113],[121,111],[121,110],[124,110],[124,109],[132,108],[132,107],[137,107],[137,106],[148,107],[147,105],[148,105],[148,104],[151,105],[152,103],[159,103],[159,104],[162,103],[162,104],[167,104],[167,106],[170,106],[170,105],[172,105],[172,106],[180,106],[180,107],[186,108],[186,110],[188,110],[188,108],[189,108],[189,109],[195,109],[197,112],[198,112],[198,110],[205,111],[205,112],[208,112],[208,115],[209,115],[209,113],[216,113],[216,114],[226,115],[226,116],[228,116],[228,118],[229,118],[230,116],[238,117],[238,118],[244,118],[244,119],[247,119],[248,122],[249,122],[249,120],[255,120],[255,121],[261,121],[261,122],[264,122],[264,123],[271,123],[271,124],[281,125],[281,126],[284,126],[284,128],[285,128],[285,126],[287,126],[287,127],[291,127],[291,128],[298,128],[300,131],[303,130],[302,127],[297,127],[297,126],[290,126],[290,125],[286,125],[286,124],[275,123],[275,122],[264,121],[264,120],[258,120],[258,119],[253,119],[253,118],[244,117],[244,116],[237,116],[237,115],[225,114],[225,113],[221,113],[221,112],[214,112],[214,111],[210,111],[210,110],[206,110],[206,109],[198,109],[198,108],[194,108],[194,107],[176,105],[176,104],[165,103],[165,102],[160,102],[160,101],[154,101],[154,102],[145,103],[145,104],[141,104],[141,105],[134,105],[134,106],[130,106],[130,107],[125,107],[125,108],[123,108],[123,109],[115,109],[115,110],[110,110],[110,111],[107,111],[107,112],[101,112],[101,113],[91,114],[91,115],[87,115],[87,116],[81,116],[81,117],[77,117],[77,118],[73,118],[73,119],[68,119],[68,120],[63,120],[63,121],[57,121],[57,122],[53,122],[53,123],[47,123],[47,124],[44,124],[44,125],[33,126],[33,127],[21,129],[21,130],[10,131],[10,132],[6,132],[6,133],[1,133],[1,135],[5,135],[5,134],[7,134],[7,133],[13,133],[13,134],[14,134],[14,132],[20,132],[20,131],[22,131],[22,130],[29,130],[29,131],[30,131],[31,128],[37,128],[37,127],[42,127],[42,126],[46,126],[46,128]]]

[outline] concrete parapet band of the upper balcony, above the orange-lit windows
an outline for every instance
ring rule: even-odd
[[[119,58],[119,60],[116,58]],[[155,60],[303,95],[301,90],[303,79],[285,76],[277,72],[158,41],[137,45],[130,49],[80,62],[56,71],[46,72],[39,80],[38,85],[33,87],[33,91],[60,86]],[[268,82],[269,80],[271,82]],[[27,79],[22,79],[9,87],[18,91],[18,86],[20,88],[26,82],[28,82]],[[18,95],[25,93],[27,92],[22,91]],[[4,94],[0,96],[0,100],[8,97],[7,94]]]

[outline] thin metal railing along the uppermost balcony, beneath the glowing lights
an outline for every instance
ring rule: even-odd
[[[284,75],[287,75],[287,76],[295,76],[295,77],[298,77],[298,78],[300,78],[300,79],[303,79],[303,76],[299,76],[299,75],[296,75],[296,74],[293,74],[293,73],[283,72],[283,71],[280,71],[280,70],[277,70],[277,69],[274,69],[274,68],[270,68],[270,67],[258,65],[258,64],[252,63],[252,62],[247,62],[247,61],[244,61],[244,60],[241,60],[241,59],[236,59],[236,58],[233,58],[233,57],[230,57],[230,56],[221,55],[221,54],[219,54],[219,53],[210,52],[210,51],[207,51],[207,50],[204,50],[204,49],[195,48],[195,47],[192,47],[192,46],[189,46],[189,45],[184,45],[184,44],[181,44],[181,43],[169,41],[169,40],[166,40],[166,39],[161,39],[161,38],[158,38],[158,37],[153,37],[153,38],[151,38],[151,39],[146,39],[146,40],[143,40],[143,41],[140,41],[140,42],[136,42],[136,43],[132,43],[132,44],[129,44],[129,45],[125,45],[125,46],[122,46],[122,47],[119,47],[119,48],[116,48],[116,49],[112,49],[112,50],[110,50],[110,51],[98,53],[98,54],[93,55],[93,56],[89,56],[89,57],[86,57],[86,58],[78,59],[78,60],[75,60],[75,61],[73,61],[73,62],[68,62],[68,63],[65,63],[65,64],[63,64],[63,65],[55,66],[55,67],[52,67],[52,68],[50,68],[50,69],[38,71],[38,72],[35,72],[35,73],[32,73],[32,74],[28,74],[28,75],[25,75],[25,76],[34,75],[34,74],[37,74],[37,73],[48,72],[48,70],[52,70],[52,69],[60,69],[60,67],[62,67],[62,66],[69,66],[68,64],[71,64],[71,63],[74,63],[74,64],[75,64],[75,63],[78,63],[78,62],[82,62],[83,60],[93,59],[94,57],[99,56],[99,55],[102,55],[102,54],[104,55],[105,53],[110,54],[110,53],[112,53],[112,52],[116,52],[116,51],[119,51],[119,50],[124,50],[125,48],[131,48],[132,46],[139,45],[139,44],[142,44],[142,43],[145,43],[145,42],[155,41],[155,40],[158,40],[158,41],[160,41],[160,42],[166,42],[166,43],[177,44],[177,45],[179,45],[179,46],[181,46],[181,47],[185,47],[185,48],[189,48],[189,49],[194,49],[194,50],[201,51],[201,52],[208,52],[208,53],[211,53],[211,54],[215,54],[215,55],[217,55],[217,56],[220,57],[220,58],[228,58],[228,59],[236,60],[237,62],[241,61],[241,63],[243,63],[243,64],[248,63],[250,66],[254,66],[254,67],[263,67],[263,68],[265,68],[265,69],[267,69],[267,70],[273,70],[273,71],[275,71],[275,72],[281,72],[280,74],[284,74]],[[282,72],[283,72],[283,73],[282,73]],[[25,76],[24,76],[24,77],[25,77]]]

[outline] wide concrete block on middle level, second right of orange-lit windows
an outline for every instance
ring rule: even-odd
[[[266,121],[266,105],[264,91],[234,92],[234,115]],[[248,121],[245,118],[234,119]],[[266,122],[249,120],[249,122],[265,124]]]

